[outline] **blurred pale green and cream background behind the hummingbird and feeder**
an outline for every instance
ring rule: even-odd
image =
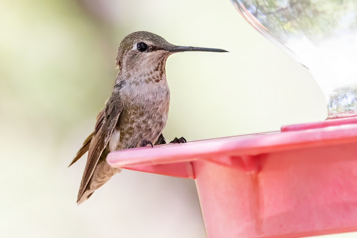
[[[310,73],[229,0],[0,0],[0,29],[0,237],[205,237],[189,179],[126,170],[76,206],[86,158],[67,165],[111,93],[116,49],[131,32],[230,51],[169,57],[168,139],[327,116]]]

